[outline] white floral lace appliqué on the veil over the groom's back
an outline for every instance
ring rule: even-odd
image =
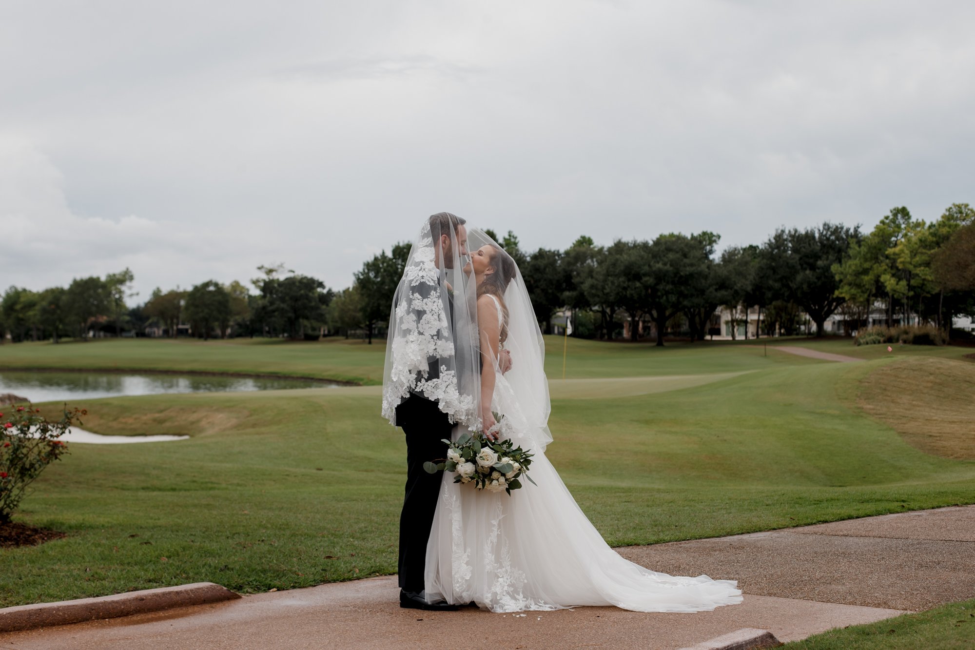
[[[426,233],[429,234],[429,225]],[[392,370],[382,396],[382,415],[395,426],[397,405],[415,392],[438,402],[451,424],[470,422],[475,416],[474,397],[460,394],[456,373],[441,365],[439,377],[428,379],[431,357],[454,355],[431,237],[420,240],[413,259],[416,264],[406,268],[404,278],[409,280],[409,287],[424,285],[424,292],[409,291],[396,307],[400,328],[393,336]]]

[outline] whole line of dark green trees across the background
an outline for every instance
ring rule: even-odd
[[[647,323],[657,345],[668,332],[704,339],[722,307],[732,329],[742,312],[747,322],[757,309],[760,336],[795,334],[804,316],[822,336],[836,313],[863,327],[878,305],[888,326],[898,320],[947,330],[956,315],[975,314],[975,210],[968,204],[952,205],[931,223],[894,208],[870,232],[828,222],[780,227],[761,244],[721,254],[720,236],[710,231],[608,246],[581,236],[562,251],[525,251],[510,230],[503,237],[487,234],[521,268],[546,333],[562,309],[570,314],[573,336],[612,339],[628,329],[636,341]],[[157,288],[133,307],[127,305],[135,297],[128,268],[40,292],[11,287],[0,301],[0,330],[14,342],[84,340],[90,333],[119,336],[154,326],[167,336],[183,328],[204,339],[361,332],[371,343],[383,334],[409,248],[398,243],[389,254],[374,255],[341,291],[283,264],[258,266],[254,292],[238,281],[208,280],[186,290]]]

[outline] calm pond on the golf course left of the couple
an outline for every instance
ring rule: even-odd
[[[32,402],[94,399],[169,392],[281,390],[340,386],[333,382],[274,377],[169,375],[137,372],[0,371],[0,394],[12,392]]]

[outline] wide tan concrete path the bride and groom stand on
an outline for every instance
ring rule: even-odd
[[[400,609],[396,579],[383,577],[14,632],[0,636],[0,649],[452,649],[458,630],[482,628],[484,640],[470,647],[667,649],[742,628],[799,639],[975,597],[972,506],[618,550],[659,571],[739,580],[745,601],[696,614],[421,612]]]

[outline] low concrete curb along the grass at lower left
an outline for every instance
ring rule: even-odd
[[[0,609],[0,633],[114,619],[173,607],[236,600],[240,597],[242,596],[239,593],[215,583],[192,583],[95,598],[18,605]]]

